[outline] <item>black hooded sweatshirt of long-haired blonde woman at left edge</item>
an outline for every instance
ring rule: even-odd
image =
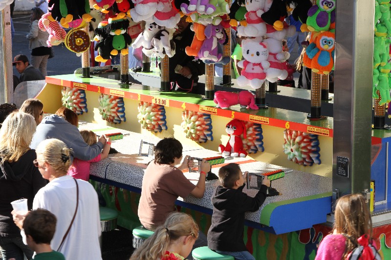
[[[11,201],[27,199],[32,209],[35,194],[47,183],[34,166],[35,159],[35,150],[30,149],[16,162],[0,163],[0,237],[21,237],[21,230],[12,220]]]

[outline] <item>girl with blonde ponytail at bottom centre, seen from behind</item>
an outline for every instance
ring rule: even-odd
[[[131,260],[184,260],[198,237],[198,226],[190,215],[171,213],[152,237],[145,240]]]

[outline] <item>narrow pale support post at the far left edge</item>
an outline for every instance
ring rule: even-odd
[[[0,103],[13,102],[14,101],[14,88],[12,79],[12,38],[11,38],[11,17],[10,8],[7,5],[0,11],[0,60],[2,65],[0,66],[0,76],[3,80],[0,80]]]

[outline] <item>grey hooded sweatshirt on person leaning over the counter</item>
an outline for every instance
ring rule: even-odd
[[[56,138],[65,142],[68,148],[73,149],[74,157],[80,160],[94,159],[103,149],[103,143],[101,142],[91,146],[88,145],[76,126],[57,115],[50,115],[42,120],[37,126],[37,131],[33,136],[30,147],[37,149],[40,142],[50,138]]]

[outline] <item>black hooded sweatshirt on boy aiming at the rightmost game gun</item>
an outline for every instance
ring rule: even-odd
[[[257,211],[266,199],[267,186],[252,198],[238,189],[217,186],[212,197],[212,225],[208,231],[208,247],[212,250],[241,252],[247,251],[243,241],[244,213]]]

